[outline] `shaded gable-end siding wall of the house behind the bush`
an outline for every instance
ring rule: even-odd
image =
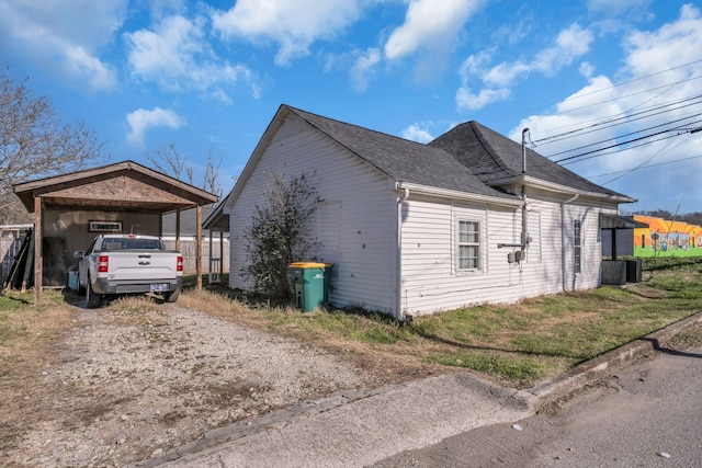
[[[270,174],[313,180],[322,205],[309,226],[317,260],[333,263],[330,301],[393,313],[396,297],[396,194],[386,176],[317,130],[287,117],[275,132],[230,212],[229,286],[248,289],[244,232],[264,204]],[[301,259],[306,260],[306,259]]]

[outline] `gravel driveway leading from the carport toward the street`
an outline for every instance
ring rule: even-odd
[[[319,350],[162,305],[82,310],[24,397],[13,466],[124,466],[218,426],[375,377]]]

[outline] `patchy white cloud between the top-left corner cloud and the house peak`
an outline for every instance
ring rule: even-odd
[[[260,94],[260,85],[246,66],[219,60],[205,37],[203,18],[168,16],[152,30],[125,34],[132,76],[154,81],[163,89],[192,89],[230,102],[222,85],[240,82]]]

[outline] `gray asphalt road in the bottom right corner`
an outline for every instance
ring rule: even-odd
[[[702,467],[702,346],[695,342],[660,350],[531,418],[374,466]]]

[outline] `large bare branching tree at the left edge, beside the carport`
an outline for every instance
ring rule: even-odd
[[[0,224],[31,220],[13,184],[104,161],[95,133],[83,122],[61,124],[48,99],[35,98],[26,82],[0,71]]]

